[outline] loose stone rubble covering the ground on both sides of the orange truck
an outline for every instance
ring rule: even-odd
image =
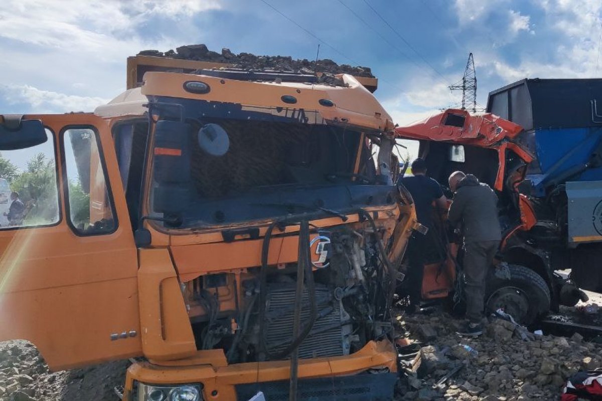
[[[602,296],[588,295],[588,304],[602,305]],[[560,314],[573,321],[602,321],[602,313],[585,315],[579,306],[562,308]],[[396,400],[557,400],[569,375],[602,366],[602,346],[579,335],[522,340],[510,323],[495,320],[482,337],[462,338],[455,334],[461,322],[441,311],[398,315],[397,332],[421,343],[422,367],[419,374],[400,379]],[[7,341],[0,343],[0,401],[115,401],[113,387],[123,384],[128,366],[129,361],[116,361],[51,373],[32,344]],[[457,366],[462,370],[443,388],[432,388]]]

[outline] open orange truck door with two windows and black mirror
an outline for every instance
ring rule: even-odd
[[[0,341],[31,341],[53,370],[140,355],[137,253],[107,122],[0,115],[0,177]]]

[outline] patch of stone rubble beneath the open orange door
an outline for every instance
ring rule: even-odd
[[[123,384],[128,361],[85,369],[49,372],[33,344],[0,343],[0,401],[115,401],[113,387]]]

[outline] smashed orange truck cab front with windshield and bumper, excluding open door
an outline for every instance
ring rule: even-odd
[[[149,361],[129,369],[125,397],[199,385],[205,398],[282,399],[294,376],[298,399],[388,397],[394,263],[414,224],[391,150],[371,156],[393,142],[391,121],[350,76],[229,76],[145,75],[138,279],[153,302],[140,305]]]

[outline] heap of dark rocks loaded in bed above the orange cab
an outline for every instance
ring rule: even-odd
[[[289,56],[257,56],[250,53],[235,54],[230,49],[223,48],[221,53],[210,51],[205,44],[191,44],[180,46],[176,51],[160,52],[157,50],[144,50],[138,53],[141,56],[169,57],[183,60],[210,61],[212,63],[227,63],[232,67],[244,70],[276,70],[294,71],[313,75],[314,72],[329,74],[351,74],[374,78],[368,67],[352,67],[347,64],[337,64],[327,58],[323,60],[293,60]]]

